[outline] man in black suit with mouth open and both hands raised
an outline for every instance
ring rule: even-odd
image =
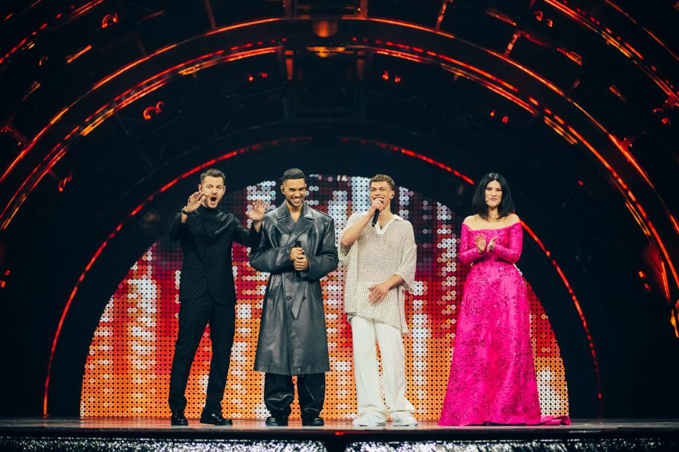
[[[255,201],[245,215],[253,220],[248,231],[232,213],[219,210],[224,196],[224,173],[207,169],[200,175],[198,191],[177,214],[170,227],[170,239],[180,240],[184,261],[179,285],[179,332],[170,372],[170,396],[173,425],[187,425],[186,384],[191,364],[203,335],[210,326],[212,360],[207,383],[205,408],[200,415],[203,424],[231,425],[222,417],[228,364],[231,359],[233,334],[236,330],[236,290],[231,268],[231,244],[255,246],[266,206]]]

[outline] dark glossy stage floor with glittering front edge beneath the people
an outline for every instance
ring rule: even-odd
[[[233,452],[492,452],[679,451],[679,420],[572,420],[559,426],[267,427],[264,420],[234,420],[216,427],[169,419],[0,419],[0,450],[16,451],[216,451]],[[498,448],[499,447],[499,448]]]

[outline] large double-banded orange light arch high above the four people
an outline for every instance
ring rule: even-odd
[[[289,21],[304,21],[308,19],[283,19],[283,18],[269,18],[269,19],[263,19],[263,20],[254,20],[246,23],[239,23],[235,25],[228,25],[226,27],[218,28],[216,30],[210,30],[209,32],[206,32],[202,35],[198,35],[195,37],[191,37],[185,41],[182,41],[178,44],[170,44],[169,46],[163,47],[162,49],[158,49],[158,51],[154,52],[153,54],[138,59],[137,61],[132,62],[131,64],[128,64],[127,66],[124,66],[124,68],[119,69],[118,71],[115,71],[112,73],[110,76],[107,76],[100,80],[98,83],[95,83],[93,85],[92,90],[88,91],[88,93],[91,93],[93,90],[96,90],[100,88],[101,86],[105,85],[106,83],[112,81],[114,78],[117,78],[120,76],[122,73],[128,71],[129,69],[132,69],[135,66],[138,66],[139,64],[143,63],[144,61],[149,61],[153,57],[157,57],[159,54],[163,54],[165,52],[168,52],[170,49],[174,49],[176,47],[179,47],[183,44],[187,44],[188,42],[195,42],[196,40],[199,40],[202,37],[207,37],[211,35],[217,35],[220,33],[228,32],[230,30],[235,30],[238,28],[246,28],[249,26],[255,26],[255,25],[260,25],[264,23],[270,23],[270,22],[276,22],[276,21],[282,21],[282,20],[289,20]],[[518,64],[516,61],[513,61],[512,59],[498,54],[497,52],[494,52],[489,49],[485,49],[484,47],[480,47],[477,44],[474,44],[472,42],[468,42],[465,40],[459,40],[457,37],[454,35],[451,35],[450,33],[442,32],[441,30],[436,30],[432,28],[427,28],[422,25],[417,25],[413,23],[407,23],[407,22],[402,22],[399,20],[390,20],[390,19],[381,19],[381,18],[368,18],[368,19],[359,19],[359,18],[346,18],[346,20],[352,20],[352,21],[362,21],[362,22],[373,22],[373,23],[388,23],[392,24],[398,27],[403,27],[403,28],[413,28],[416,30],[424,31],[424,32],[429,32],[429,33],[434,33],[436,35],[441,35],[443,37],[447,37],[448,39],[452,40],[458,40],[460,42],[463,42],[466,45],[470,45],[472,47],[475,47],[476,49],[480,49],[482,52],[487,52],[487,54],[492,55],[493,57],[496,57],[498,59],[501,59],[501,61],[504,61],[508,64],[511,64],[512,66],[515,66],[517,69],[520,69],[524,73],[526,73],[528,76],[532,77],[535,81],[540,82],[541,85],[545,85],[548,89],[552,90],[552,92],[556,93],[562,99],[566,100],[569,102],[569,104],[573,105],[576,109],[579,109],[580,112],[582,112],[585,117],[588,119],[588,121],[591,122],[601,133],[605,133],[605,138],[607,138],[611,143],[613,143],[614,148],[619,151],[624,157],[627,162],[632,165],[634,170],[644,179],[646,184],[649,185],[649,188],[653,191],[655,194],[656,198],[658,199],[659,203],[661,204],[661,207],[664,210],[664,213],[670,220],[671,226],[675,230],[675,232],[679,233],[679,222],[676,220],[676,218],[671,214],[671,212],[668,210],[666,204],[664,203],[663,199],[659,196],[659,194],[654,190],[653,184],[651,183],[648,175],[644,171],[644,169],[639,165],[639,163],[634,159],[631,153],[627,151],[627,149],[622,145],[620,140],[613,136],[613,134],[608,133],[603,126],[596,121],[593,117],[591,117],[590,114],[586,112],[586,110],[578,105],[576,102],[571,100],[569,97],[567,97],[562,90],[559,90],[553,83],[550,83],[547,81],[545,78],[542,78],[539,76],[539,74],[535,73],[534,71],[531,71],[530,69],[526,68],[525,66]],[[277,45],[274,47],[269,47],[268,52],[277,52],[278,49],[281,48],[282,42],[285,42],[286,38],[282,37],[279,38],[278,40],[271,40],[272,43],[276,42]],[[125,106],[129,105],[130,103],[134,102],[134,100],[137,100],[138,98],[142,97],[145,94],[150,93],[153,90],[156,90],[157,88],[160,88],[161,86],[165,85],[168,83],[169,79],[166,79],[165,81],[158,81],[157,83],[150,83],[150,81],[154,77],[158,76],[163,76],[167,75],[168,71],[177,71],[177,73],[181,75],[185,75],[185,73],[193,73],[196,71],[199,71],[201,69],[204,69],[209,66],[214,66],[214,64],[219,64],[220,62],[226,62],[226,61],[233,61],[233,59],[240,59],[240,58],[245,58],[248,56],[254,56],[256,54],[261,54],[260,52],[264,52],[263,50],[259,49],[252,49],[251,47],[256,47],[256,45],[261,45],[263,42],[257,42],[257,44],[254,43],[248,43],[244,44],[241,46],[236,46],[236,47],[231,47],[229,51],[234,51],[234,50],[243,50],[243,48],[248,48],[248,50],[244,50],[242,52],[238,53],[231,53],[231,54],[226,54],[226,49],[221,49],[216,52],[211,52],[211,54],[206,54],[203,55],[203,57],[199,57],[197,59],[192,59],[190,61],[185,61],[185,63],[175,65],[171,67],[170,69],[163,71],[162,73],[156,74],[156,76],[153,76],[152,78],[147,79],[146,81],[139,83],[134,89],[139,89],[143,94],[140,95],[134,95],[133,97],[130,97],[129,99],[122,100],[122,97],[124,97],[123,93],[122,95],[119,95],[115,98],[115,100],[121,100],[120,104],[114,105],[114,102],[109,102],[108,105],[105,105],[104,107],[100,107],[98,111],[95,113],[95,115],[89,117],[86,122],[90,122],[91,124],[88,124],[87,126],[79,126],[79,128],[73,129],[68,135],[64,137],[62,141],[57,143],[57,145],[54,145],[50,153],[48,153],[47,157],[45,157],[45,160],[43,162],[47,162],[46,165],[43,165],[42,167],[35,167],[32,172],[30,172],[28,178],[26,178],[21,184],[20,188],[15,192],[15,194],[12,196],[11,201],[4,207],[2,212],[0,213],[0,228],[6,229],[8,227],[9,222],[11,222],[12,218],[16,213],[18,212],[19,208],[21,208],[21,205],[23,204],[23,201],[30,195],[30,192],[35,189],[35,186],[42,180],[43,177],[45,177],[45,174],[47,174],[50,169],[59,161],[59,159],[67,152],[68,146],[66,145],[68,141],[81,138],[82,136],[86,136],[88,133],[93,131],[93,129],[96,128],[96,126],[100,125],[107,117],[112,114],[112,112],[117,111],[118,109],[122,109]],[[386,44],[386,45],[385,45]],[[393,48],[389,48],[389,45],[391,44]],[[453,59],[451,57],[448,57],[447,55],[436,53],[436,52],[431,52],[431,51],[425,51],[424,49],[421,49],[419,47],[412,47],[406,44],[399,44],[399,43],[393,43],[393,42],[385,42],[381,43],[382,48],[380,47],[375,47],[376,52],[385,52],[387,54],[390,54],[393,57],[399,57],[399,58],[404,58],[404,59],[410,59],[414,61],[418,61],[420,63],[426,63],[429,62],[431,64],[431,61],[434,59],[444,61],[443,63],[439,63],[439,66],[441,69],[451,71],[453,73],[457,73],[458,75],[463,75],[466,78],[468,78],[470,81],[473,81],[475,83],[479,83],[480,85],[484,86],[484,88],[487,88],[489,90],[492,90],[494,93],[501,95],[502,97],[505,97],[506,99],[510,100],[511,102],[515,103],[519,107],[526,109],[526,111],[530,112],[530,114],[533,114],[534,116],[542,116],[543,121],[547,126],[549,126],[551,129],[553,129],[556,133],[558,133],[560,136],[562,136],[564,139],[566,139],[569,143],[574,143],[579,141],[584,145],[584,147],[590,151],[594,157],[600,162],[600,164],[605,168],[608,173],[609,173],[609,180],[617,189],[617,191],[624,196],[626,202],[625,206],[627,209],[632,213],[632,217],[637,221],[639,224],[639,227],[641,228],[642,232],[648,237],[651,242],[656,244],[658,247],[658,251],[660,251],[661,255],[663,258],[665,258],[666,263],[668,265],[668,269],[670,270],[670,273],[673,276],[674,283],[677,287],[679,287],[679,273],[678,270],[675,266],[675,263],[672,260],[671,254],[668,251],[668,247],[664,244],[663,239],[661,237],[661,234],[658,232],[656,229],[655,225],[651,222],[649,219],[649,215],[646,213],[646,209],[642,206],[642,204],[639,202],[638,196],[634,195],[632,191],[629,189],[629,185],[620,177],[620,174],[614,169],[613,165],[610,165],[610,163],[605,160],[605,157],[603,157],[603,154],[600,153],[596,148],[589,143],[586,138],[579,132],[576,131],[572,126],[569,124],[566,124],[564,119],[559,117],[557,114],[552,112],[552,109],[547,108],[547,107],[540,107],[540,101],[535,100],[535,98],[530,97],[528,95],[521,95],[521,92],[518,90],[518,88],[514,87],[513,85],[506,83],[505,81],[502,81],[500,78],[497,78],[496,76],[493,76],[492,73],[488,73],[487,71],[483,71],[482,69],[478,68],[477,66],[473,66],[471,64],[467,64],[464,61],[460,61],[458,59]],[[418,55],[417,53],[420,53],[421,55]],[[219,55],[225,54],[224,56],[224,61],[203,61],[200,62],[200,59],[209,59],[209,57],[217,57],[219,59]],[[228,56],[226,56],[228,55]],[[451,66],[452,65],[452,66]],[[183,66],[184,69],[180,69],[180,66]],[[185,71],[185,73],[182,73],[182,71]],[[471,73],[469,72],[471,71]],[[177,75],[175,73],[175,75]],[[129,93],[130,90],[127,91]],[[86,93],[86,95],[88,94]],[[11,163],[10,167],[6,170],[6,172],[3,174],[2,177],[0,177],[0,181],[4,179],[9,172],[11,172],[11,169],[13,167],[16,167],[16,163],[23,158],[23,156],[28,153],[28,151],[35,146],[37,141],[44,135],[45,131],[47,131],[50,126],[53,126],[56,124],[62,117],[64,116],[64,113],[73,105],[75,105],[77,102],[79,102],[83,97],[86,95],[83,95],[79,98],[79,100],[76,100],[73,104],[71,104],[69,107],[66,107],[66,109],[63,109],[61,112],[59,112],[52,120],[50,120],[50,124],[45,126],[40,133],[38,133],[35,138],[27,145],[27,147],[22,150],[20,155],[16,157],[16,159]],[[522,98],[523,97],[523,98]],[[525,98],[525,99],[524,99]],[[112,107],[112,105],[114,105]],[[31,181],[33,179],[33,181]]]

